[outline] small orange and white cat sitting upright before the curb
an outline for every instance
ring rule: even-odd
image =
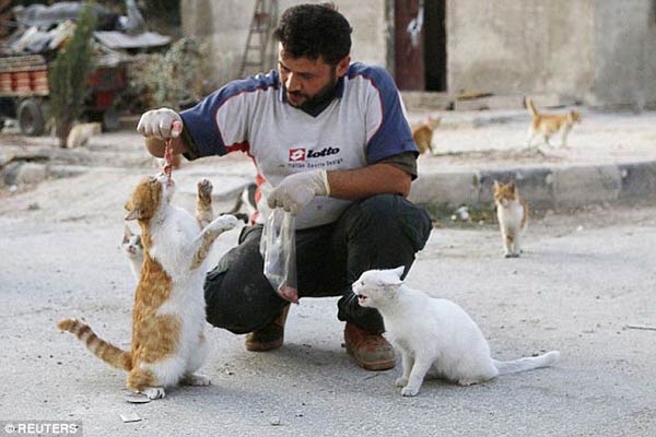
[[[495,180],[492,192],[505,257],[517,258],[522,253],[520,239],[528,225],[528,204],[519,198],[515,182],[503,185]]]

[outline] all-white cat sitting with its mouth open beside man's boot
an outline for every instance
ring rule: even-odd
[[[511,362],[492,358],[471,317],[450,300],[405,285],[403,270],[370,270],[353,283],[360,305],[380,312],[393,344],[401,352],[402,375],[395,383],[402,387],[402,395],[417,395],[426,375],[470,386],[558,362],[558,351]]]

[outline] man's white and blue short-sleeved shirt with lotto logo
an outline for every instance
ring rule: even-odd
[[[195,145],[188,157],[234,151],[253,157],[260,223],[268,215],[267,193],[291,174],[361,168],[418,152],[394,80],[385,69],[362,63],[349,66],[337,98],[315,117],[285,102],[276,70],[233,81],[180,116]],[[297,215],[296,227],[332,223],[350,203],[316,197]]]

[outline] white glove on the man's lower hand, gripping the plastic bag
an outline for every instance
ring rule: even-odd
[[[269,208],[282,208],[296,215],[315,196],[330,196],[328,175],[324,169],[296,173],[282,179],[268,196]]]

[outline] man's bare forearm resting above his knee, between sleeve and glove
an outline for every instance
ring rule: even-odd
[[[360,200],[374,194],[391,193],[408,197],[412,177],[391,164],[374,164],[352,170],[330,170],[330,196]]]

